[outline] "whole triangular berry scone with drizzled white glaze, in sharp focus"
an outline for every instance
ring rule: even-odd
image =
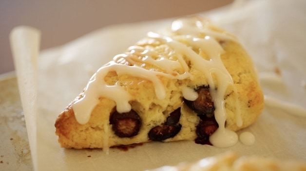
[[[263,107],[252,60],[237,38],[187,17],[99,68],[55,126],[64,148],[155,140],[228,147]]]

